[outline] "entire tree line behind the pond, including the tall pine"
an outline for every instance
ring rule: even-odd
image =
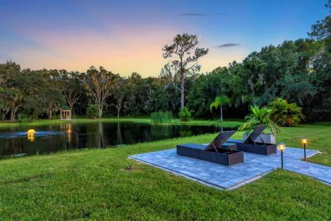
[[[143,78],[139,73],[121,77],[94,66],[86,73],[21,69],[7,61],[0,64],[0,119],[53,118],[63,105],[75,115],[85,115],[89,104],[98,106],[99,117],[146,116],[156,111],[177,115],[184,100],[194,117],[210,118],[217,117],[210,111],[215,97],[227,96],[230,106],[224,107],[224,117],[228,118],[241,118],[249,105],[265,106],[281,97],[301,106],[308,121],[330,120],[330,20],[329,13],[314,24],[309,39],[265,46],[242,62],[210,73],[200,73],[197,64],[208,49],[197,48],[197,37],[188,34],[177,35],[163,48],[163,57],[179,59],[166,64],[158,77]]]

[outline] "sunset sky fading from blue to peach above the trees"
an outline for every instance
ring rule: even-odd
[[[128,76],[157,76],[165,44],[178,33],[210,49],[203,71],[242,61],[262,46],[305,38],[328,11],[319,0],[264,1],[3,1],[0,62],[22,68],[90,66]]]

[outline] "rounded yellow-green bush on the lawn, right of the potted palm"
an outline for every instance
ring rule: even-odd
[[[272,109],[270,119],[279,126],[297,126],[305,116],[297,104],[288,104],[285,99],[277,98],[269,104]]]

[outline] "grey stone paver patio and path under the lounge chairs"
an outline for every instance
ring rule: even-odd
[[[317,153],[319,151],[307,150],[308,157]],[[281,167],[280,155],[278,150],[272,155],[244,153],[244,162],[233,166],[183,157],[177,155],[175,148],[132,155],[130,158],[208,186],[220,189],[236,189]],[[301,158],[303,158],[303,149],[287,147],[284,152],[284,169],[309,175],[325,182],[325,184],[331,184],[330,166],[304,162]]]

